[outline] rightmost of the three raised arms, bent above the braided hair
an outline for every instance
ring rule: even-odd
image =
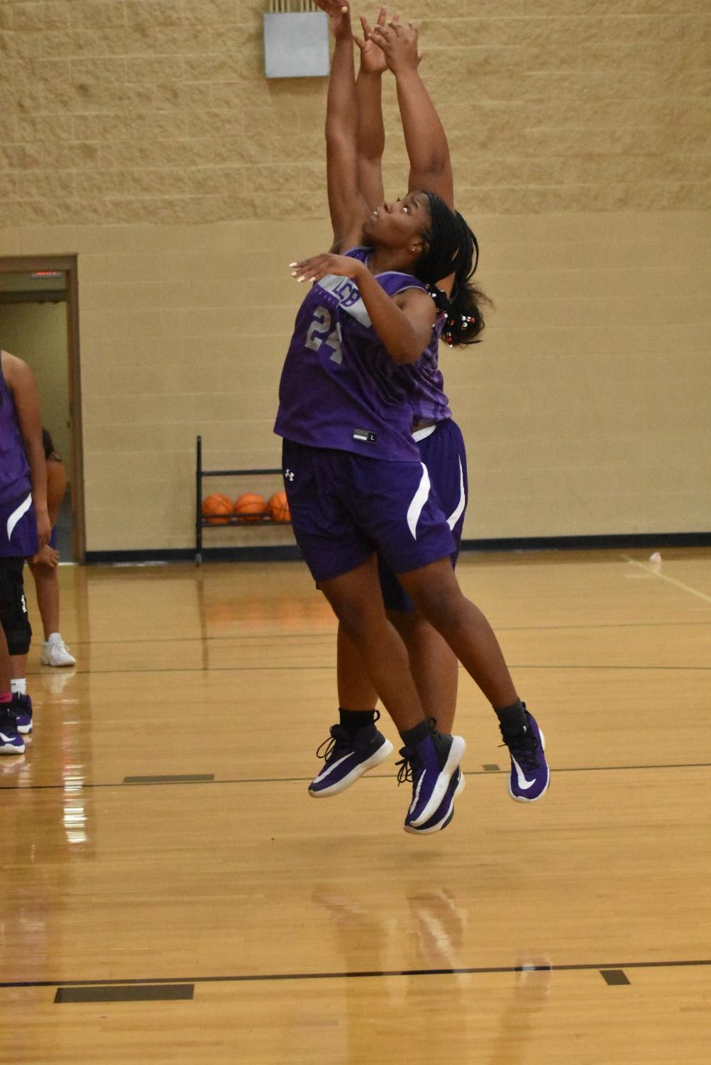
[[[376,26],[371,39],[382,49],[395,75],[402,132],[410,160],[409,190],[434,193],[454,206],[449,145],[430,94],[417,71],[417,27],[388,22]]]

